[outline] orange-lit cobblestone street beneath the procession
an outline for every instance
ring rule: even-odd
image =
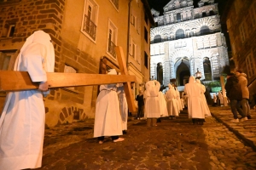
[[[47,128],[39,169],[255,169],[253,145],[230,131],[245,122],[229,127],[221,122],[232,118],[228,108],[210,110],[212,117],[202,126],[193,125],[187,111],[175,120],[162,118],[157,127],[131,120],[125,141],[119,143],[107,138],[98,144],[92,138],[93,120]],[[254,111],[252,116],[256,117]]]

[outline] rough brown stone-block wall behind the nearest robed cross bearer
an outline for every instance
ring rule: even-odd
[[[65,0],[15,0],[0,2],[0,51],[19,50],[34,31],[49,33],[55,48],[55,71],[63,72],[65,65],[73,66],[79,73],[98,73],[96,59],[80,51],[61,37]],[[7,37],[9,26],[15,25],[13,37]],[[87,95],[85,95],[87,94]],[[56,88],[44,99],[46,125],[84,120],[94,117],[97,86]],[[85,98],[90,96],[89,99]],[[1,107],[4,97],[1,98]]]

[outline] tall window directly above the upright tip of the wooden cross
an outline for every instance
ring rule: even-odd
[[[111,20],[108,20],[108,49],[107,53],[116,59],[115,46],[117,44],[117,27],[113,25]]]

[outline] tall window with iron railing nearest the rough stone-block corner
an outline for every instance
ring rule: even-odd
[[[94,0],[84,1],[84,15],[81,31],[94,42],[96,41],[98,9],[99,7]]]

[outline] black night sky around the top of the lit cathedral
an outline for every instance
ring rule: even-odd
[[[171,0],[148,0],[148,4],[150,8],[154,8],[157,11],[160,11],[160,14],[163,13],[163,8],[166,6],[167,3],[169,3]],[[194,0],[194,7],[198,7],[198,2],[200,0]],[[227,0],[215,0],[215,3],[218,3],[218,10],[219,14],[222,14],[222,10],[224,8],[224,3],[226,3]]]

